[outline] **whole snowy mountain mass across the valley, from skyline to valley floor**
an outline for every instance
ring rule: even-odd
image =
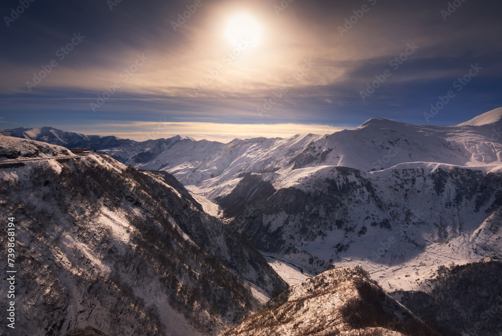
[[[437,265],[500,256],[501,116],[497,108],[448,127],[371,119],[331,135],[175,137],[101,151],[173,174],[284,267],[315,275],[361,264],[387,290],[410,289]]]

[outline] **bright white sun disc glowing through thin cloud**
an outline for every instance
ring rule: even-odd
[[[244,41],[246,45],[256,46],[261,40],[262,27],[252,16],[240,14],[228,21],[225,35],[234,46],[238,46]]]

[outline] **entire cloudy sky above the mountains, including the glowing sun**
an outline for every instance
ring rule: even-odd
[[[228,142],[371,118],[457,125],[502,106],[500,13],[498,0],[4,0],[0,128]]]

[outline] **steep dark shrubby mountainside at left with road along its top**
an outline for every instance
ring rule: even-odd
[[[89,326],[109,335],[216,335],[287,288],[169,173],[0,136],[0,159],[12,153],[43,158],[0,165],[0,211],[15,217],[19,334]],[[2,251],[7,230],[0,228]]]

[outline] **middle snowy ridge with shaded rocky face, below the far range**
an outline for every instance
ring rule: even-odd
[[[270,187],[269,175],[254,176],[264,181],[254,186]],[[225,196],[233,204],[217,201],[232,216],[229,226],[259,250],[310,274],[330,264],[363,265],[384,288],[411,289],[439,265],[502,257],[500,171],[327,166],[276,178],[266,197],[246,198],[252,189],[244,177]]]

